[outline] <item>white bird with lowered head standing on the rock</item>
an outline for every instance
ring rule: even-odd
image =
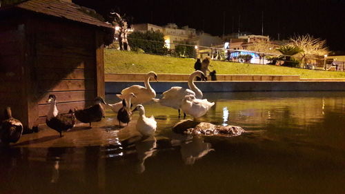
[[[196,99],[193,95],[186,95],[182,101],[181,109],[184,113],[192,115],[194,118],[199,118],[205,115],[213,105],[214,102],[209,102],[207,99]]]

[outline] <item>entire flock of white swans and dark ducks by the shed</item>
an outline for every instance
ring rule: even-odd
[[[120,128],[121,123],[128,125],[132,119],[132,112],[138,111],[139,118],[136,129],[141,135],[150,136],[155,133],[157,122],[153,116],[146,117],[145,108],[142,105],[146,102],[155,101],[162,106],[177,109],[179,117],[180,111],[182,110],[184,117],[188,114],[194,118],[205,115],[210,107],[215,104],[214,102],[209,102],[207,99],[202,99],[203,93],[194,84],[195,77],[200,77],[201,80],[205,80],[204,73],[197,70],[189,76],[189,88],[174,86],[164,92],[161,99],[157,99],[155,98],[155,90],[150,86],[151,78],[158,81],[157,74],[151,71],[148,72],[144,79],[145,86],[133,85],[122,90],[121,94],[117,95],[121,101],[115,104],[108,104],[101,97],[97,97],[94,105],[83,110],[70,110],[68,113],[59,113],[57,110],[57,97],[51,94],[47,100],[47,103],[50,103],[50,108],[46,117],[46,124],[48,127],[56,130],[60,137],[63,131],[70,130],[75,126],[77,119],[80,122],[90,124],[91,127],[92,122],[99,122],[105,117],[104,108],[101,105],[104,104],[117,113]],[[132,110],[132,107],[135,108]],[[23,125],[19,120],[12,117],[10,108],[6,109],[6,115],[7,119],[1,124],[0,137],[1,142],[9,144],[10,142],[17,142],[19,140],[23,132]]]

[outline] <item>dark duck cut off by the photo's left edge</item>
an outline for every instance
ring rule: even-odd
[[[0,137],[3,144],[10,144],[18,142],[23,133],[23,124],[18,119],[12,117],[12,111],[10,107],[5,110],[6,120],[1,123]]]

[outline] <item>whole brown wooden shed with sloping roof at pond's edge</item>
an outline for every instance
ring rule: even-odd
[[[0,119],[11,106],[30,129],[45,122],[50,93],[61,113],[104,96],[103,45],[114,31],[97,16],[66,0],[0,9]]]

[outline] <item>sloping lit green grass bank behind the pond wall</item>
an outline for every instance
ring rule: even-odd
[[[194,70],[194,59],[141,54],[137,52],[105,49],[106,73],[157,73],[188,74]],[[306,70],[282,66],[259,64],[239,64],[224,61],[211,61],[210,70],[217,74],[240,75],[300,75],[301,78],[345,78],[345,72]]]

